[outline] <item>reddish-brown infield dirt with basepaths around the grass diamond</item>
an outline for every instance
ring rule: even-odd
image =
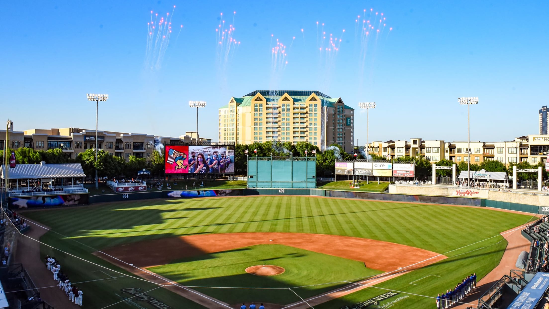
[[[239,249],[260,244],[279,244],[299,249],[324,253],[327,255],[361,261],[368,268],[378,269],[385,273],[363,280],[358,285],[349,284],[343,288],[311,297],[311,305],[365,289],[370,284],[378,284],[399,275],[421,268],[428,264],[444,260],[446,256],[393,242],[363,239],[339,235],[306,234],[306,233],[226,233],[203,234],[141,241],[116,246],[94,254],[116,264],[144,279],[164,285],[177,285],[170,279],[152,273],[145,268],[168,264],[184,257],[199,256],[209,253]],[[244,271],[244,270],[243,270]],[[231,305],[214,299],[198,291],[166,286],[167,289],[197,302],[210,309],[227,309]],[[296,303],[294,309],[309,308],[307,304]],[[314,306],[314,305],[313,305]],[[276,309],[277,307],[270,307]],[[282,308],[279,306],[278,308]]]

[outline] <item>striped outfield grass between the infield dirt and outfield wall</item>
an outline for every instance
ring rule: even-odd
[[[97,249],[113,242],[195,233],[299,231],[378,239],[441,253],[531,218],[479,208],[301,196],[139,201],[26,214]]]

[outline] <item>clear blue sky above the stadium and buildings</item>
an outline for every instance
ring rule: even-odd
[[[173,5],[175,29],[151,69],[150,11],[171,14]],[[371,8],[386,26],[365,42],[355,20]],[[370,141],[466,140],[458,96],[480,100],[472,140],[512,140],[537,134],[547,105],[546,1],[4,1],[0,9],[0,108],[15,130],[93,129],[87,92],[110,97],[99,129],[162,136],[194,131],[188,101],[206,101],[199,133],[215,141],[217,108],[253,90],[319,90],[355,108],[377,102]],[[220,60],[218,18],[232,24],[234,11],[240,45]],[[334,37],[345,29],[337,54],[319,51],[317,21]],[[273,69],[271,35],[288,46],[285,68]],[[364,112],[355,132],[364,144]]]

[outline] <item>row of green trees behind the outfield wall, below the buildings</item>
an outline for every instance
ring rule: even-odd
[[[248,153],[246,153],[248,151]],[[257,152],[255,152],[257,151]],[[9,151],[9,154],[12,150]],[[305,153],[306,152],[306,153]],[[315,152],[315,153],[313,153]],[[365,152],[362,147],[355,147],[354,154],[346,153],[340,145],[330,145],[326,150],[320,151],[320,149],[310,144],[309,142],[297,142],[295,145],[292,142],[255,142],[253,144],[237,144],[234,150],[234,163],[235,172],[237,175],[246,175],[248,173],[248,157],[247,156],[259,156],[259,157],[316,157],[316,168],[318,177],[330,177],[334,174],[335,160],[352,160],[352,159],[365,159]],[[9,155],[8,154],[8,155]],[[377,154],[372,154],[371,157],[374,160],[385,159]],[[3,161],[3,151],[0,151],[0,158]],[[46,163],[80,163],[84,173],[88,176],[95,174],[97,167],[98,175],[103,177],[126,177],[133,178],[137,176],[137,172],[142,169],[148,169],[152,176],[161,177],[164,176],[164,151],[159,153],[154,151],[148,158],[138,158],[130,156],[126,161],[122,157],[111,156],[104,150],[99,150],[97,153],[97,165],[95,162],[95,151],[88,149],[85,152],[81,152],[72,159],[64,153],[61,149],[49,149],[49,150],[33,150],[32,148],[20,147],[15,150],[15,162],[17,164],[37,164],[41,161]],[[416,165],[416,177],[419,179],[427,179],[432,175],[432,164],[425,160],[422,156],[418,157],[400,157],[395,158],[394,162],[413,162]],[[456,162],[442,159],[435,164],[438,166],[452,166]],[[535,165],[524,161],[520,163],[511,163],[509,167],[499,161],[483,161],[480,163],[471,163],[470,170],[479,171],[481,169],[487,172],[505,172],[509,175],[513,172],[513,165],[517,168],[531,168],[537,169],[543,167],[544,179],[547,179],[548,173],[545,172],[544,163],[540,162]],[[457,173],[462,170],[467,170],[467,162],[460,162],[457,164]],[[436,170],[438,176],[452,176],[451,170]],[[537,173],[518,173],[518,180],[534,180],[537,179]]]

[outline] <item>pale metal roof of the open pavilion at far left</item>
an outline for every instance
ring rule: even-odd
[[[5,179],[5,165],[0,170],[0,178]],[[15,168],[8,167],[8,179],[37,179],[37,178],[70,178],[86,177],[80,163],[46,164],[17,164]]]

